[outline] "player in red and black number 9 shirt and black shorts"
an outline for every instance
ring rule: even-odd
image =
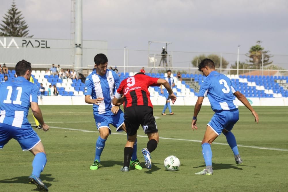
[[[129,162],[140,124],[149,138],[147,147],[142,149],[142,153],[145,159],[145,166],[151,169],[150,153],[157,147],[159,134],[153,116],[153,105],[150,100],[148,87],[160,85],[164,85],[167,89],[169,93],[168,98],[171,98],[174,104],[176,96],[173,94],[170,84],[164,79],[149,77],[144,73],[137,73],[132,77],[124,79],[114,95],[113,104],[119,104],[124,101],[124,118],[128,134],[124,148],[124,166],[121,168],[123,172],[129,171]],[[124,98],[122,98],[123,95]]]

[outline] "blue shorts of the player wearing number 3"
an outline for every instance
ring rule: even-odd
[[[217,135],[220,135],[222,130],[231,131],[235,123],[239,120],[238,109],[224,110],[216,112],[211,121],[207,124]]]

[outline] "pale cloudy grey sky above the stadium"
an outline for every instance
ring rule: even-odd
[[[31,35],[70,39],[70,0],[15,2]],[[12,0],[1,0],[1,20],[11,4]],[[244,54],[260,40],[270,54],[287,55],[272,60],[288,69],[287,18],[285,0],[83,0],[83,39],[105,40],[108,49],[129,50],[147,50],[148,41],[168,41],[172,44],[167,49],[175,53],[237,54],[240,45],[240,61],[248,59]],[[151,46],[161,52],[163,44]],[[235,62],[237,56],[226,57]]]

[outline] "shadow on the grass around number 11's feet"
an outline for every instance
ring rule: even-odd
[[[44,181],[43,183],[47,187],[52,186],[52,184],[47,183],[47,182],[57,182],[58,181],[58,180],[54,180],[55,178],[51,177],[51,174],[41,174],[40,179],[42,181]],[[47,181],[47,182],[45,182],[45,181]],[[0,180],[0,183],[27,183],[27,184],[29,184],[29,181],[28,181],[28,176],[19,176],[19,177],[13,177],[10,179]],[[39,191],[39,190],[36,187],[36,189],[34,189],[33,191]]]

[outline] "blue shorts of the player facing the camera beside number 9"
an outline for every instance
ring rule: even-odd
[[[123,131],[120,129],[124,124],[124,113],[121,109],[119,109],[117,114],[113,114],[112,111],[107,111],[103,114],[94,114],[94,119],[98,130],[102,127],[107,127],[109,129],[109,134],[111,134],[109,124],[112,124],[116,128],[116,131]]]

